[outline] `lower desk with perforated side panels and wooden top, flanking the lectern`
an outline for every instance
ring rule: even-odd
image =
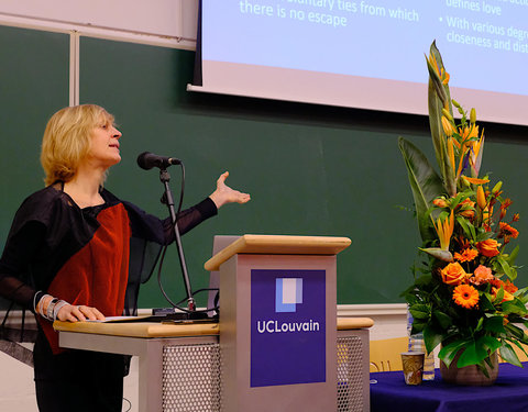
[[[369,318],[338,318],[338,411],[369,411]],[[55,322],[66,348],[139,356],[139,410],[220,411],[218,323]]]

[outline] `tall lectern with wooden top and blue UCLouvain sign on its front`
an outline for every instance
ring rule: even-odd
[[[346,237],[244,235],[220,271],[222,409],[336,411],[337,254]]]

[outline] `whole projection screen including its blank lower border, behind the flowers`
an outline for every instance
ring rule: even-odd
[[[436,41],[451,96],[528,125],[528,0],[202,0],[189,90],[427,113]]]

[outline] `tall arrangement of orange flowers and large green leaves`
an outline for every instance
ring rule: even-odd
[[[521,325],[528,325],[527,289],[514,285],[518,246],[510,214],[512,200],[503,183],[492,186],[480,177],[484,131],[475,110],[468,115],[449,91],[449,74],[435,43],[427,57],[429,123],[437,174],[426,156],[400,137],[427,259],[415,267],[415,281],[403,297],[413,314],[413,333],[422,332],[427,352],[442,345],[439,358],[449,367],[486,364],[497,349],[501,357],[521,366],[514,350],[528,344]],[[458,112],[458,120],[453,116]],[[526,353],[526,352],[525,352]]]

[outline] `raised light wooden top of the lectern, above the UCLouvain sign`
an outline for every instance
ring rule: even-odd
[[[217,253],[204,266],[209,271],[219,270],[220,265],[237,254],[337,255],[351,243],[348,237],[243,235]]]

